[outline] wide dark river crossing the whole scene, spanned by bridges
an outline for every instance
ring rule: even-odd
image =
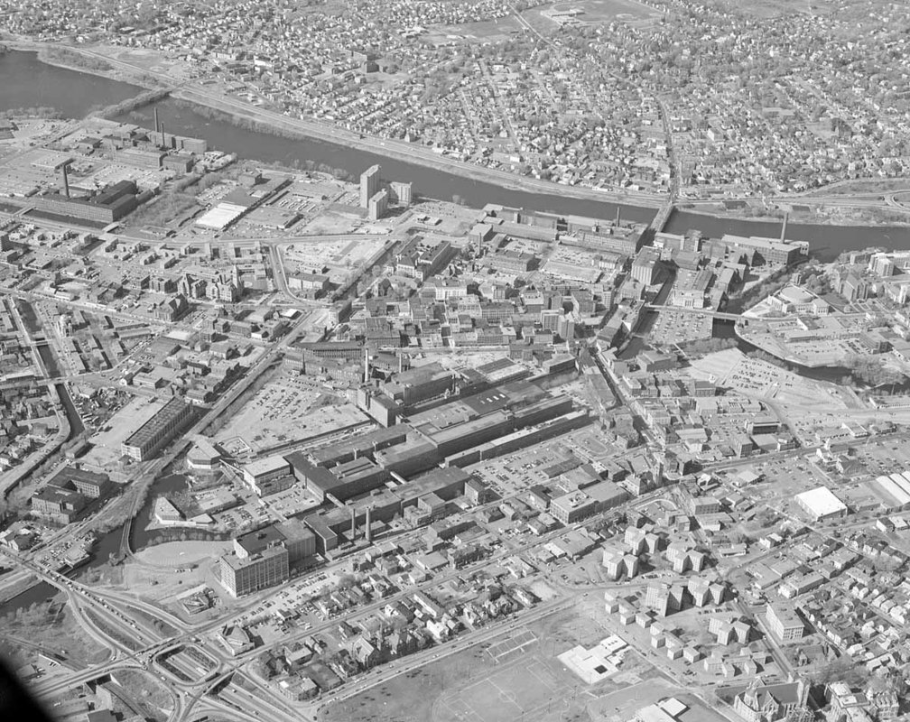
[[[111,105],[138,95],[136,85],[108,80],[96,75],[79,73],[54,65],[45,65],[35,53],[12,51],[0,56],[0,77],[4,78],[0,94],[0,111],[15,107],[52,105],[67,116],[82,117],[93,107]],[[226,120],[208,119],[192,108],[167,99],[157,104],[158,115],[167,130],[181,135],[205,138],[208,145],[240,157],[264,163],[300,165],[306,161],[341,168],[351,175],[359,175],[369,165],[382,165],[382,175],[390,180],[411,181],[415,192],[421,196],[451,200],[460,196],[469,206],[482,207],[488,203],[524,207],[561,214],[576,214],[599,218],[616,216],[617,205],[595,200],[564,196],[560,186],[553,186],[551,194],[531,193],[502,188],[435,170],[416,163],[400,161],[381,154],[369,153],[345,145],[317,139],[291,140],[244,130]],[[118,118],[128,123],[151,127],[152,108],[140,108]],[[622,205],[622,217],[649,223],[655,215],[653,208]],[[717,237],[724,233],[740,236],[777,237],[780,223],[751,221],[725,216],[675,211],[664,227],[671,233],[684,233],[697,228],[704,236]],[[910,226],[827,226],[791,223],[787,237],[808,241],[813,253],[822,260],[832,260],[846,250],[868,246],[893,249],[910,248]]]

